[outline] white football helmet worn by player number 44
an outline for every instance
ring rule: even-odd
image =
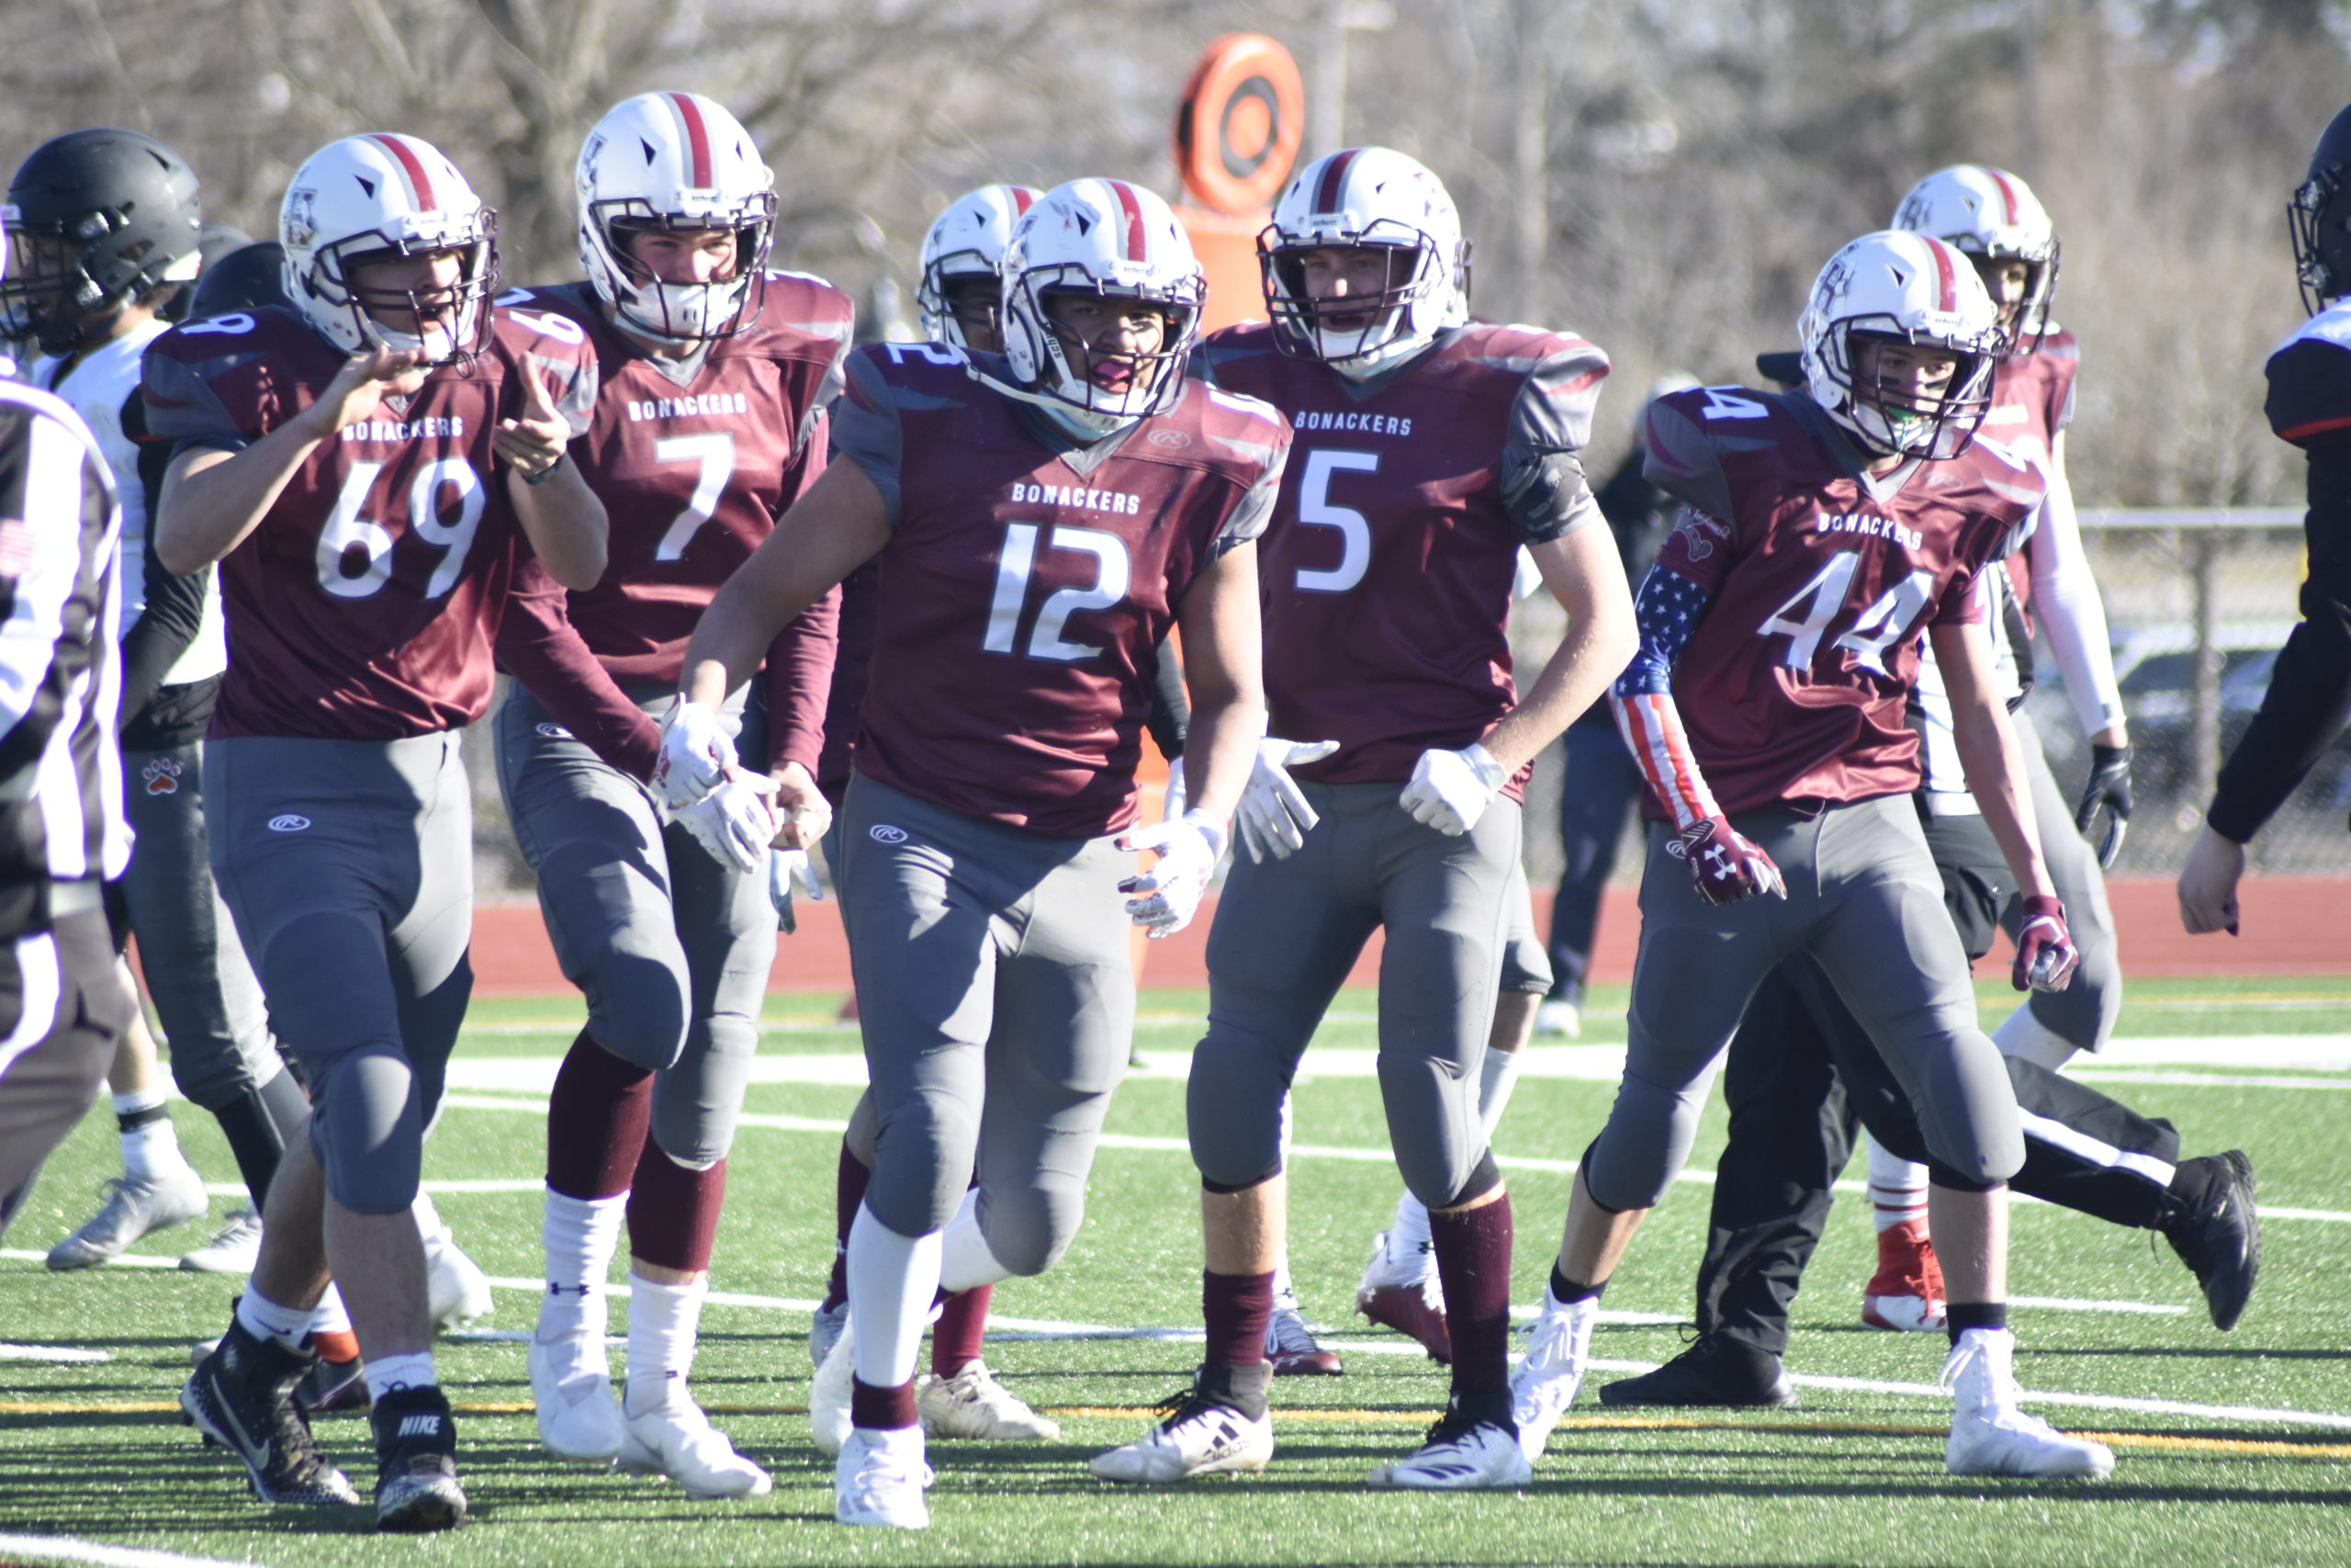
[[[1796,317],[1803,381],[1829,418],[1881,456],[1954,458],[1991,409],[1991,371],[2008,353],[2001,313],[1951,244],[1897,228],[1862,235],[1829,256]],[[1888,402],[1855,386],[1855,339],[1942,348],[1958,360],[1933,404]]]

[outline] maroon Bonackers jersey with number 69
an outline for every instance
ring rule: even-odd
[[[491,430],[524,369],[581,430],[576,331],[496,310],[491,346],[322,442],[221,559],[228,675],[214,736],[397,741],[489,708],[491,637],[520,543]],[[301,414],[343,353],[292,310],[186,322],[146,353],[146,416],[179,447],[247,447]]]

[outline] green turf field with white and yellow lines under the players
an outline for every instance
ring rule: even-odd
[[[1987,1016],[2005,990],[1984,990]],[[1086,1455],[1126,1441],[1185,1382],[1199,1326],[1197,1180],[1183,1154],[1183,1060],[1199,992],[1150,992],[1150,1067],[1121,1091],[1086,1229],[1046,1279],[997,1291],[987,1359],[1056,1410],[1051,1446],[933,1443],[926,1535],[851,1533],[830,1521],[830,1462],[806,1441],[809,1307],[832,1248],[835,1128],[849,1112],[851,1030],[828,997],[776,997],[764,1077],[729,1175],[696,1389],[736,1443],[776,1474],[748,1505],[691,1505],[665,1483],[564,1469],[543,1458],[522,1345],[487,1333],[440,1342],[461,1410],[473,1523],[451,1537],[386,1540],[362,1512],[263,1509],[219,1453],[176,1418],[188,1345],[221,1331],[233,1281],[113,1265],[40,1267],[118,1173],[110,1119],[92,1117],[52,1159],[0,1255],[0,1340],[103,1352],[106,1361],[0,1359],[0,1566],[101,1561],[24,1535],[110,1542],[282,1568],[360,1563],[2351,1563],[2351,980],[2175,980],[2135,985],[2123,1060],[2095,1065],[2109,1093],[2170,1117],[2189,1152],[2252,1152],[2266,1222],[2262,1286],[2219,1335],[2193,1279],[2161,1239],[2045,1206],[2015,1215],[2012,1312],[2029,1389],[2067,1394],[2043,1415],[2111,1434],[2111,1481],[1958,1481],[1944,1474],[1930,1392],[1940,1338],[1857,1326],[1869,1222],[1841,1204],[1799,1302],[1789,1366],[1796,1410],[1653,1420],[1606,1413],[1596,1382],[1672,1356],[1690,1309],[1707,1211],[1702,1173],[1721,1140],[1709,1117],[1681,1182],[1613,1284],[1603,1371],[1552,1439],[1523,1495],[1366,1493],[1364,1472],[1415,1443],[1444,1399],[1439,1368],[1352,1319],[1352,1288],[1396,1178],[1378,1088],[1366,1077],[1371,997],[1349,992],[1300,1084],[1291,1262],[1307,1314],[1347,1356],[1335,1380],[1277,1382],[1281,1453],[1262,1479],[1112,1490]],[[463,1072],[426,1150],[428,1182],[491,1276],[480,1331],[527,1331],[538,1274],[543,1084],[578,1027],[576,999],[475,1006]],[[1585,1051],[1542,1058],[1498,1135],[1519,1215],[1514,1300],[1540,1295],[1568,1161],[1592,1138],[1622,1041],[1622,990],[1594,1004]],[[809,1060],[816,1058],[816,1060]],[[846,1063],[835,1060],[835,1067]],[[1319,1067],[1319,1072],[1317,1072]],[[809,1081],[832,1079],[832,1081]],[[233,1171],[216,1128],[181,1107],[200,1168]],[[214,1213],[230,1208],[214,1201]],[[141,1253],[169,1260],[202,1227]],[[618,1331],[618,1312],[616,1312]],[[1086,1326],[1098,1326],[1086,1331]],[[1413,1352],[1413,1354],[1404,1354]],[[0,1352],[5,1354],[5,1352]],[[618,1349],[616,1349],[618,1359]],[[1841,1382],[1838,1382],[1841,1380]],[[367,1427],[320,1422],[360,1483]]]

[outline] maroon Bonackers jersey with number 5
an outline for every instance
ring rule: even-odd
[[[1404,783],[1420,752],[1479,741],[1519,701],[1509,590],[1533,527],[1505,503],[1512,456],[1573,454],[1608,357],[1533,327],[1462,327],[1396,371],[1354,381],[1227,327],[1201,374],[1281,409],[1293,449],[1258,548],[1272,733],[1338,741],[1300,778]],[[1521,458],[1523,461],[1523,458]],[[1523,508],[1521,508],[1523,510]],[[1516,799],[1526,773],[1509,780]]]

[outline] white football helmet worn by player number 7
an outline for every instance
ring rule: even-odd
[[[571,186],[581,266],[628,324],[670,343],[701,343],[759,320],[766,252],[776,240],[776,176],[743,122],[698,92],[639,92],[597,120]],[[661,282],[628,252],[630,230],[729,228],[734,273]]]

